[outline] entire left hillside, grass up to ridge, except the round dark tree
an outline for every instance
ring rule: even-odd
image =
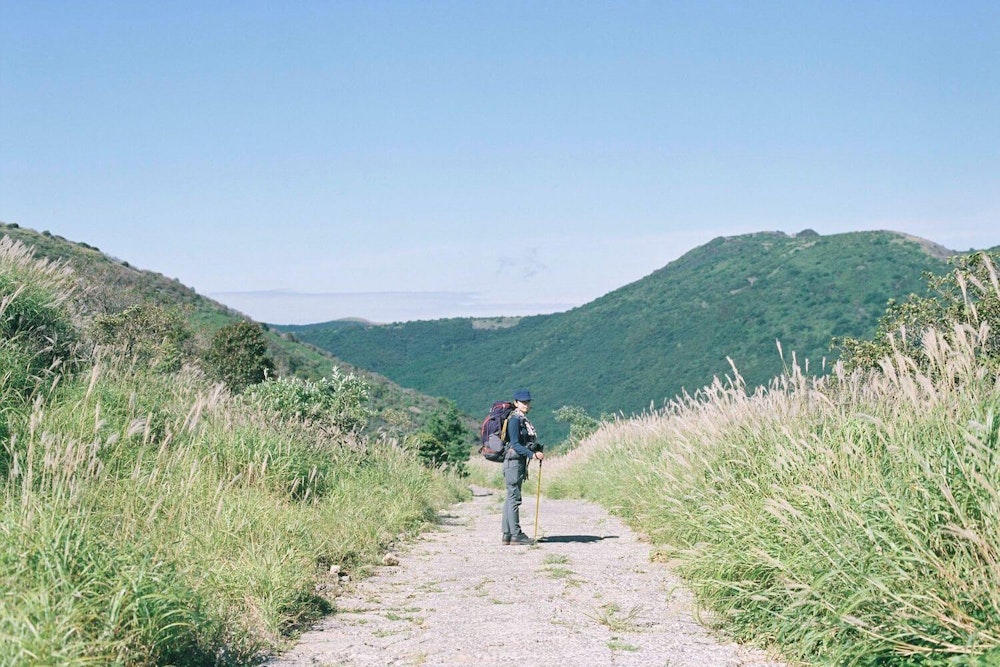
[[[355,378],[228,391],[167,314],[238,315],[7,229],[39,243],[0,234],[0,667],[257,664],[467,493],[359,433]]]

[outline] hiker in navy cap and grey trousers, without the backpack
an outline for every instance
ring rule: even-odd
[[[507,421],[510,447],[503,462],[503,479],[507,484],[507,497],[503,503],[503,544],[532,544],[534,540],[521,531],[521,485],[528,479],[528,461],[545,458],[538,444],[535,427],[528,421],[531,409],[531,392],[518,389],[514,392],[514,411]],[[541,463],[539,463],[541,465]]]

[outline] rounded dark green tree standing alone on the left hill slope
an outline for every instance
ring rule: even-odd
[[[209,373],[230,390],[240,392],[263,382],[274,372],[264,331],[255,322],[240,320],[219,329],[205,355]]]

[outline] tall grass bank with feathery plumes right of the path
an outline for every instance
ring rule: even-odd
[[[789,659],[1000,665],[998,260],[887,313],[877,363],[606,424],[545,459],[547,493],[620,514],[706,619]]]

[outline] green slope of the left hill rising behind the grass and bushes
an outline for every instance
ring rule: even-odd
[[[66,262],[77,276],[77,310],[84,317],[120,313],[139,304],[155,304],[181,313],[196,338],[195,347],[205,349],[212,335],[221,327],[239,320],[250,320],[217,301],[195,292],[176,279],[131,266],[109,257],[87,243],[0,222],[0,237],[9,236],[32,248],[35,256]],[[372,428],[391,426],[396,430],[419,429],[443,407],[438,397],[400,387],[364,368],[338,359],[325,350],[295,340],[264,325],[268,353],[279,375],[294,375],[311,380],[329,376],[337,367],[343,373],[363,377],[369,385],[370,407],[375,414]]]

